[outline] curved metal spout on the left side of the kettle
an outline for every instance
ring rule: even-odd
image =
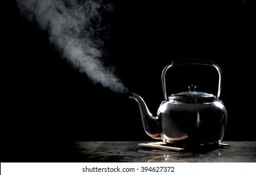
[[[141,96],[132,93],[133,96],[129,97],[132,99],[135,99],[137,103],[139,104],[139,109],[141,111],[141,119],[144,131],[149,135],[151,138],[154,139],[161,139],[161,129],[159,125],[158,117],[152,116],[152,114],[149,112],[149,109],[147,108],[146,103],[141,98]]]

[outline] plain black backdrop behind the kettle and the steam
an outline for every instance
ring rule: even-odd
[[[38,150],[72,141],[149,141],[139,107],[142,96],[152,114],[163,101],[161,71],[178,59],[207,59],[223,71],[221,100],[228,111],[223,141],[255,139],[255,19],[251,1],[104,1],[114,11],[103,59],[129,89],[118,94],[93,84],[27,21],[15,1],[2,6],[1,140],[4,160],[22,161]],[[199,71],[198,71],[199,70]],[[170,69],[168,94],[216,94],[214,69]],[[1,153],[1,154],[2,154]],[[26,156],[25,156],[26,155]],[[9,158],[9,159],[8,159]]]

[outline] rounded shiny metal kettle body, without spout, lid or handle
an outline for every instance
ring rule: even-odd
[[[161,104],[157,116],[166,143],[219,143],[227,124],[227,109],[219,101],[191,104],[169,99]]]

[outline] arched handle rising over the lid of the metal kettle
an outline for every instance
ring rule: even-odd
[[[185,61],[185,62],[184,62],[184,61]],[[167,66],[163,69],[163,71],[162,71],[162,86],[163,86],[164,99],[167,100],[166,81],[165,81],[166,71],[167,71],[169,68],[174,67],[174,66],[181,66],[181,65],[188,65],[188,64],[197,64],[197,65],[213,66],[215,69],[217,69],[218,75],[219,75],[217,99],[220,99],[222,71],[221,71],[220,67],[219,67],[217,64],[213,64],[212,61],[202,60],[202,59],[183,59],[183,60],[181,60],[181,61],[173,61],[173,63],[167,65]]]

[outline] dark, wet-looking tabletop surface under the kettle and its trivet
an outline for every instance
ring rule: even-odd
[[[230,146],[186,149],[182,152],[142,149],[139,148],[139,143],[147,142],[81,141],[62,143],[52,148],[36,148],[33,145],[30,153],[17,144],[18,153],[9,154],[4,162],[256,162],[255,141],[230,141],[224,142]]]

